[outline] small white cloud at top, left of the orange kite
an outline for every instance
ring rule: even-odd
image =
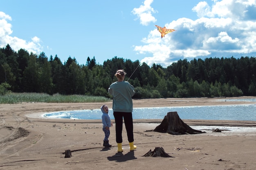
[[[153,0],[145,0],[144,5],[140,5],[139,8],[134,8],[132,14],[137,15],[140,20],[140,24],[147,26],[150,22],[156,22],[157,20],[153,17],[152,13],[156,13],[150,4]]]

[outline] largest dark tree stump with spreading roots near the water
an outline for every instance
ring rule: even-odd
[[[168,112],[162,123],[157,126],[154,132],[169,133],[171,135],[200,134],[206,133],[201,130],[192,129],[180,119],[177,112]]]

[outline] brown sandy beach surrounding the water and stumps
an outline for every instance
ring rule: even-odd
[[[134,99],[133,106],[255,104],[228,100],[242,98],[256,97]],[[112,108],[112,102],[0,104],[0,170],[254,170],[256,167],[256,121],[186,119],[183,120],[186,124],[206,133],[170,135],[147,131],[154,129],[162,119],[137,119],[134,120],[137,150],[129,151],[124,128],[124,152],[117,153],[115,124],[110,128],[112,148],[107,149],[102,146],[104,132],[100,119],[41,117],[55,111],[99,109],[103,104]],[[200,129],[202,126],[208,128]],[[212,132],[216,126],[222,132]],[[243,130],[225,130],[222,127]],[[143,156],[156,147],[162,147],[171,157]],[[71,150],[72,157],[65,158],[65,150]]]

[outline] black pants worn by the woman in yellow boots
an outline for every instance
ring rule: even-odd
[[[117,143],[122,143],[122,131],[123,131],[123,117],[124,125],[127,132],[127,137],[129,142],[133,142],[133,122],[132,122],[132,113],[127,112],[114,112],[115,123],[116,123],[116,141]]]

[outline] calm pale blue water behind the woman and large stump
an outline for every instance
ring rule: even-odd
[[[163,119],[168,112],[177,111],[180,119],[256,121],[256,99],[223,99],[223,101],[255,102],[255,104],[133,108],[132,117],[133,119]],[[102,113],[100,109],[94,109],[47,113],[43,116],[62,119],[101,119],[101,115]],[[112,109],[109,109],[109,115],[111,119],[114,119]]]

